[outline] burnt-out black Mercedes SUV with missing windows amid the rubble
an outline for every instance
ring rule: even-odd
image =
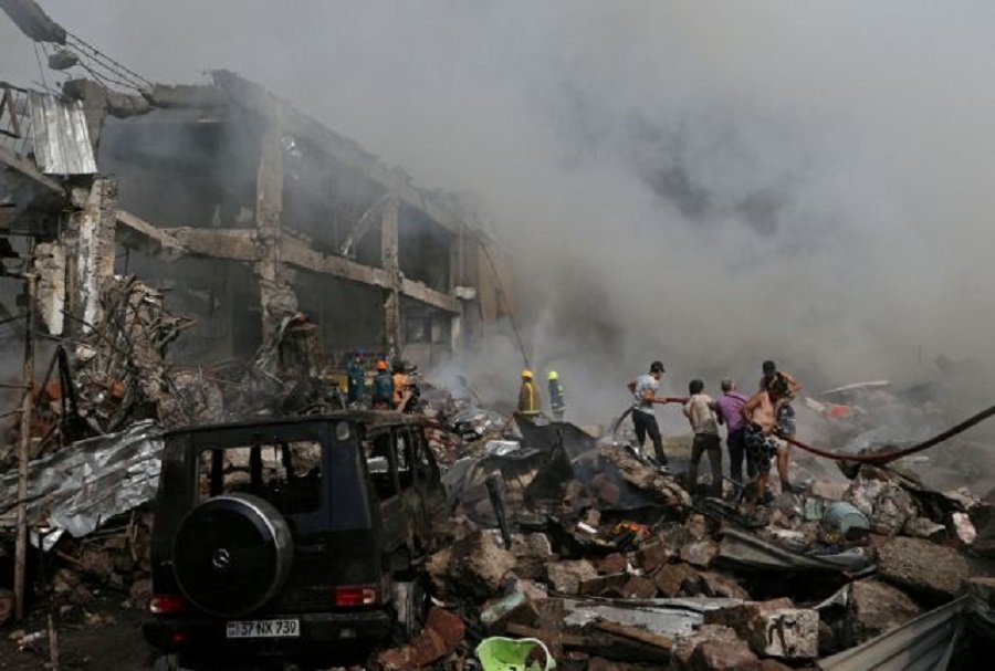
[[[167,433],[143,628],[157,668],[413,635],[446,510],[426,428],[344,411]]]

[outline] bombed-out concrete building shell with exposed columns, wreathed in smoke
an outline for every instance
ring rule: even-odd
[[[56,29],[41,39],[64,43]],[[297,313],[329,369],[360,349],[427,367],[483,344],[513,296],[468,199],[415,187],[237,74],[210,78],[0,84],[2,244],[34,243],[51,335],[100,322],[119,274],[196,319],[176,356],[191,365],[250,360]]]

